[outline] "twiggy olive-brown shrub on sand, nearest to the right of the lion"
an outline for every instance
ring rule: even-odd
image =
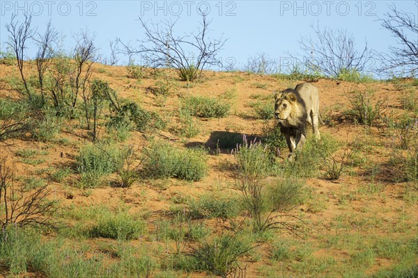
[[[346,94],[350,102],[347,115],[353,117],[359,124],[372,126],[376,124],[385,112],[385,101],[374,101],[373,90],[353,91]]]

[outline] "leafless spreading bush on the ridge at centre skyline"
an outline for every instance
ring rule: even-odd
[[[121,42],[121,53],[141,55],[152,67],[173,67],[178,70],[180,78],[187,81],[199,78],[201,72],[211,66],[222,65],[217,54],[226,40],[208,38],[210,22],[206,15],[202,15],[201,28],[197,32],[184,35],[174,34],[176,21],[147,24],[141,17],[138,20],[144,28],[146,40],[139,40],[141,45],[136,49]]]

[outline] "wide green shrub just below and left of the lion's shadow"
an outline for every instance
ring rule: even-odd
[[[208,172],[206,158],[199,149],[177,149],[168,142],[155,140],[144,149],[144,154],[143,172],[146,177],[199,181]]]

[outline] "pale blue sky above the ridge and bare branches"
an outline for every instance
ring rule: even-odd
[[[210,37],[228,39],[220,57],[238,68],[258,52],[276,59],[286,58],[288,52],[295,54],[301,35],[312,33],[311,24],[347,29],[359,48],[366,40],[369,48],[385,52],[396,42],[382,29],[378,17],[384,17],[392,3],[418,15],[414,1],[1,1],[0,42],[4,49],[8,35],[4,24],[12,13],[22,16],[29,11],[40,32],[52,19],[68,49],[74,45],[72,35],[80,29],[96,33],[95,43],[106,55],[110,40],[121,38],[134,44],[144,38],[139,16],[153,22],[179,17],[176,31],[183,33],[199,27],[201,8],[209,9]],[[29,57],[35,53],[34,47],[27,51]]]

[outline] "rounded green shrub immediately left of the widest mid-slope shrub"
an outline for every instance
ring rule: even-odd
[[[100,186],[102,177],[121,167],[121,151],[109,144],[88,144],[77,156],[77,171],[81,174],[82,188]]]

